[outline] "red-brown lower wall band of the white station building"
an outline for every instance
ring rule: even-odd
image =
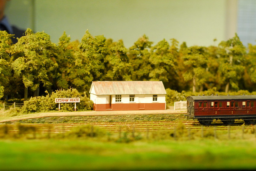
[[[165,103],[118,103],[118,104],[93,104],[93,110],[164,110]]]

